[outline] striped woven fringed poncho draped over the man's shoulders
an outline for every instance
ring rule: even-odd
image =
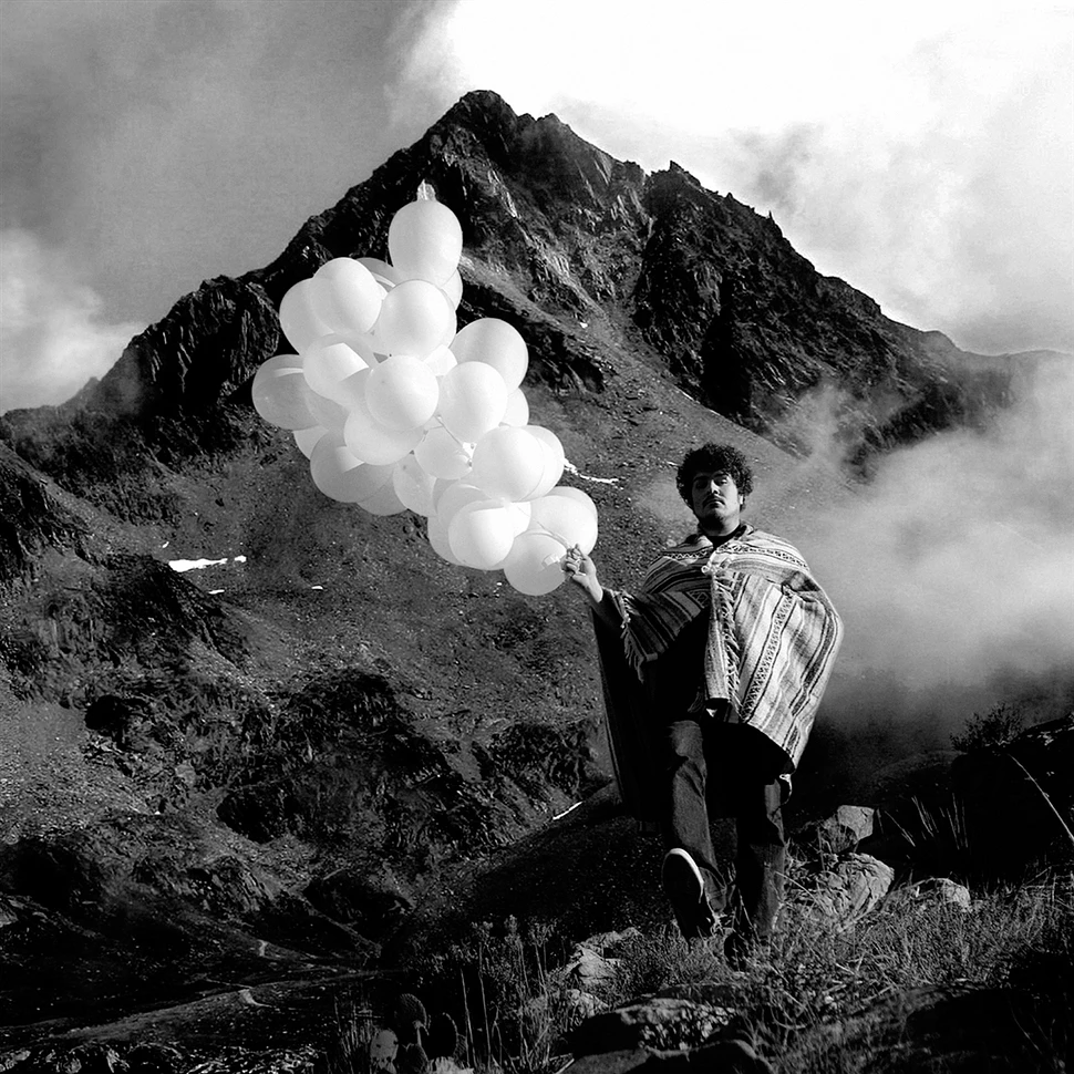
[[[595,621],[612,761],[636,816],[657,816],[660,710],[721,711],[767,735],[794,771],[843,624],[792,545],[748,526],[715,548],[695,536],[664,551],[637,592],[610,597],[620,629]]]

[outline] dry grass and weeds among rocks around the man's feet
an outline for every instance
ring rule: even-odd
[[[719,942],[688,946],[668,927],[624,941],[618,973],[597,999],[616,1005],[680,987],[722,1001],[730,990],[737,1032],[779,1074],[846,1074],[870,1063],[889,1068],[881,1060],[895,1054],[891,1033],[901,1030],[877,1012],[896,1009],[899,998],[937,987],[952,994],[1015,989],[1047,996],[1041,1024],[1024,1026],[1026,1054],[1039,1057],[1026,1068],[1057,1074],[1071,1044],[1054,1012],[1057,999],[1074,1001],[1072,892],[1074,879],[1052,878],[977,892],[965,910],[900,889],[846,931],[792,897],[771,947],[744,969],[731,969]],[[461,1065],[478,1074],[555,1074],[569,1063],[565,1034],[580,1015],[551,969],[557,952],[547,936],[514,922],[498,932],[482,927],[454,958],[454,994],[440,994],[461,1011]]]

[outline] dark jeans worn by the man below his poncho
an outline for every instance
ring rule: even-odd
[[[720,715],[674,720],[664,739],[664,845],[682,847],[705,879],[713,910],[733,932],[765,939],[783,899],[787,847],[777,777],[785,757],[760,731]],[[711,822],[733,818],[733,871],[715,860]]]

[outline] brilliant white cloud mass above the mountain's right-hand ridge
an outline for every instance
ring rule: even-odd
[[[1054,4],[468,0],[412,102],[499,92],[771,210],[888,316],[987,353],[1074,349],[1074,34]],[[519,42],[525,41],[523,49]]]

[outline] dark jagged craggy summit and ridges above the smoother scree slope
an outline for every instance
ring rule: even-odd
[[[179,299],[80,405],[206,417],[286,349],[275,312],[283,293],[330,258],[386,257],[391,218],[423,182],[463,226],[461,324],[515,319],[534,333],[533,375],[557,390],[606,383],[586,341],[592,327],[577,329],[601,323],[605,342],[651,348],[682,390],[762,434],[805,392],[838,383],[855,402],[851,454],[972,417],[994,399],[995,363],[953,379],[949,341],[820,277],[771,214],[706,190],[673,161],[647,175],[555,115],[519,116],[474,90],[311,217],[269,266]],[[923,396],[943,402],[922,409]]]

